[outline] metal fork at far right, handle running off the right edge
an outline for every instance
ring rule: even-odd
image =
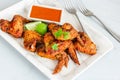
[[[81,11],[83,15],[95,17],[103,25],[104,29],[106,29],[106,31],[108,31],[112,35],[112,37],[114,37],[118,42],[120,42],[120,35],[116,34],[111,29],[109,29],[96,15],[94,15],[90,10],[88,10],[85,7],[85,5],[82,3],[81,0],[74,0],[74,1],[76,1],[78,9]]]

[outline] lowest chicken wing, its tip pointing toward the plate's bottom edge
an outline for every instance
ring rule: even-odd
[[[37,54],[39,56],[52,59],[52,60],[58,60],[58,63],[53,71],[53,74],[60,72],[64,65],[67,67],[69,58],[65,52],[60,52],[56,55],[48,54],[48,53],[45,53],[45,46],[44,47],[43,46],[44,45],[39,46],[39,48],[37,49]]]

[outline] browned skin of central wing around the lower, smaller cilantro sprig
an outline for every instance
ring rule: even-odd
[[[48,54],[55,55],[57,53],[64,51],[65,49],[67,49],[69,47],[71,41],[70,40],[66,40],[66,41],[55,40],[54,36],[50,32],[48,32],[44,35],[44,43],[45,43],[46,52]],[[54,44],[57,44],[58,50],[52,49],[52,46]]]

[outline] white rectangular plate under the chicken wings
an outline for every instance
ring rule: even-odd
[[[41,1],[42,3],[46,5],[56,6],[60,8],[60,6],[58,6],[59,3],[57,1],[50,2],[50,0],[48,0],[49,1],[48,3],[46,2],[46,0],[39,0],[39,1]],[[15,14],[20,14],[24,17],[27,17],[28,10],[32,3],[33,3],[33,0],[23,0],[1,11],[0,19],[2,18],[2,19],[11,20]],[[42,73],[44,73],[51,80],[73,80],[78,75],[80,75],[83,71],[88,69],[88,67],[90,67],[91,64],[93,64],[95,61],[100,59],[103,55],[105,55],[108,51],[110,51],[113,48],[113,45],[108,40],[108,38],[106,38],[104,35],[102,35],[98,31],[96,31],[94,28],[92,28],[83,16],[81,16],[81,20],[84,26],[86,27],[87,32],[89,33],[89,36],[94,41],[94,43],[97,45],[97,54],[93,56],[89,56],[86,54],[78,53],[77,55],[79,57],[79,61],[81,65],[80,66],[76,65],[70,60],[68,64],[68,68],[63,67],[62,71],[56,75],[52,75],[52,71],[56,65],[56,61],[49,60],[46,58],[41,58],[35,54],[32,54],[32,52],[25,50],[22,45],[21,39],[13,38],[11,35],[1,30],[0,30],[0,35],[9,44],[11,44],[16,50],[18,50],[21,55],[23,55],[28,61],[30,61],[34,66],[36,66]],[[63,24],[65,22],[71,23],[72,25],[74,25],[74,27],[77,30],[80,30],[78,21],[75,18],[75,16],[67,13],[63,9],[63,14],[62,14],[60,24]]]

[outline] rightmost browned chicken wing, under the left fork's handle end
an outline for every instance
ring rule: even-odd
[[[91,41],[88,35],[85,34],[84,32],[80,32],[79,37],[82,39],[82,43],[84,43],[84,45],[81,45],[80,43],[81,41],[75,41],[74,42],[75,48],[78,51],[89,54],[89,55],[96,54],[96,45]]]

